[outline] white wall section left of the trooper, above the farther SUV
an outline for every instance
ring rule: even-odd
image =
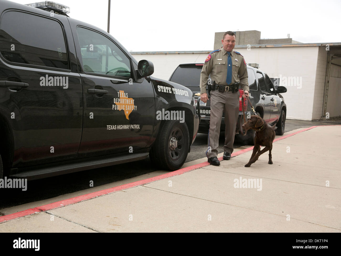
[[[137,60],[149,60],[154,64],[153,77],[168,80],[173,71],[181,63],[204,62],[210,51],[204,53],[160,53],[160,54],[136,54],[133,57]]]

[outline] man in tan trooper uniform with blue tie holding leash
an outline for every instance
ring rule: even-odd
[[[235,33],[225,32],[221,43],[222,49],[212,51],[206,58],[200,75],[200,99],[203,102],[208,100],[206,84],[211,89],[211,117],[206,156],[212,165],[220,165],[217,148],[223,111],[225,112],[223,160],[231,158],[239,113],[239,84],[244,91],[243,97],[249,97],[246,62],[239,52],[232,51],[236,44]]]

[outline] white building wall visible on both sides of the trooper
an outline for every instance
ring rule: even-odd
[[[283,93],[287,105],[287,118],[311,120],[313,117],[314,86],[316,82],[316,67],[318,59],[318,46],[300,47],[237,47],[247,63],[258,63],[260,69],[269,77],[279,77],[281,84],[286,86],[287,92]],[[154,64],[154,77],[168,80],[175,68],[181,63],[204,62],[208,51],[205,53],[160,53],[160,54],[132,54],[138,61],[150,60]],[[321,52],[321,58],[322,52]],[[322,58],[323,59],[323,58]],[[322,60],[321,59],[321,60]],[[322,72],[323,64],[319,72]],[[321,73],[322,74],[322,73]],[[319,73],[319,76],[321,75]],[[320,79],[320,77],[317,77]],[[322,80],[318,80],[320,83]],[[319,85],[321,86],[321,84]],[[321,88],[319,87],[318,90]],[[316,91],[316,100],[319,100],[320,91]],[[322,109],[320,110],[320,112]],[[314,112],[315,113],[315,112]],[[316,111],[318,113],[318,111]],[[316,114],[315,113],[315,114]]]

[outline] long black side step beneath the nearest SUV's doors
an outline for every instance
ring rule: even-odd
[[[137,154],[129,154],[126,156],[106,158],[106,159],[101,159],[101,160],[92,160],[92,161],[81,162],[81,163],[65,164],[65,165],[48,167],[48,168],[38,169],[38,170],[33,170],[33,171],[25,171],[25,172],[11,175],[10,177],[26,178],[28,180],[42,179],[42,178],[53,177],[53,176],[61,175],[61,174],[80,172],[80,171],[101,168],[101,167],[110,166],[110,165],[143,160],[145,158],[148,158],[148,155],[149,153],[137,153]]]

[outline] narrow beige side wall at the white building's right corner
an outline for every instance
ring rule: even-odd
[[[313,100],[314,109],[312,113],[312,119],[320,119],[322,116],[326,67],[327,67],[326,47],[320,46],[318,48],[318,55],[317,55],[316,78],[315,78],[315,89],[314,89],[314,100]]]

